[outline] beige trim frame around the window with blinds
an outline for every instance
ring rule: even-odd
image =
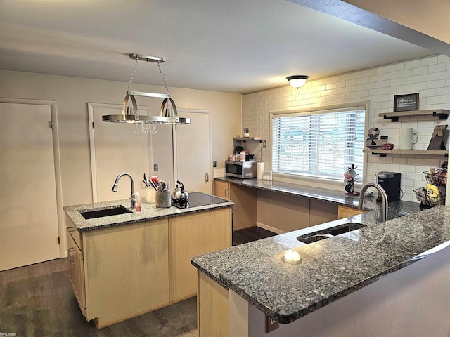
[[[302,109],[286,109],[286,110],[276,110],[273,112],[270,112],[270,123],[269,123],[269,167],[272,167],[272,144],[273,144],[273,128],[274,128],[274,116],[278,115],[288,115],[288,114],[314,114],[314,113],[321,113],[326,110],[349,110],[353,109],[355,107],[362,108],[366,110],[366,117],[364,119],[364,133],[366,134],[368,130],[368,117],[369,117],[369,101],[364,102],[353,102],[353,103],[343,103],[338,105],[321,105],[318,107],[307,107]],[[363,154],[363,162],[364,162],[364,168],[363,168],[363,176],[364,181],[361,183],[355,183],[355,187],[360,188],[364,183],[366,183],[367,180],[367,153],[364,152]],[[274,173],[274,178],[276,180],[280,181],[286,181],[286,182],[293,182],[293,183],[300,183],[305,182],[309,184],[314,183],[321,183],[326,185],[331,185],[334,187],[344,187],[344,173],[342,172],[342,182],[338,180],[332,180],[332,179],[326,179],[326,178],[314,178],[314,177],[306,177],[306,176],[297,176],[297,175],[291,175],[286,173]]]

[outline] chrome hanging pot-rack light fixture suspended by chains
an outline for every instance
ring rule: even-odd
[[[102,121],[108,121],[110,123],[136,123],[142,124],[142,131],[146,132],[149,130],[148,127],[144,128],[144,124],[191,124],[190,118],[178,117],[178,112],[176,111],[176,105],[174,100],[170,98],[169,86],[167,85],[164,74],[162,73],[160,63],[164,63],[164,58],[156,58],[154,56],[140,55],[140,54],[130,54],[129,57],[136,60],[134,65],[133,73],[131,74],[131,79],[129,80],[127,95],[125,95],[122,114],[108,114],[102,116]],[[136,68],[138,66],[139,60],[146,62],[155,62],[158,65],[158,70],[164,82],[166,88],[166,93],[146,93],[141,91],[131,91],[131,84],[133,84],[134,74],[136,74]],[[138,105],[136,103],[136,98],[134,96],[145,96],[145,97],[155,97],[164,98],[162,101],[159,116],[147,116],[139,115]],[[131,101],[131,104],[130,104]],[[169,104],[170,103],[170,104]],[[166,107],[167,105],[167,107]],[[171,106],[169,108],[169,105]],[[144,131],[146,130],[146,131]],[[153,128],[153,131],[155,129]],[[148,133],[148,132],[146,132]]]

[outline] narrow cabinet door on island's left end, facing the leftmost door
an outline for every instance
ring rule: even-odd
[[[83,316],[86,316],[86,292],[84,290],[83,252],[79,250],[75,240],[67,229],[69,278],[75,297]]]

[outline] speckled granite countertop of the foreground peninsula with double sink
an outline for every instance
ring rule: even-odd
[[[274,182],[275,183],[275,182]],[[395,204],[395,203],[392,203]],[[391,220],[378,212],[353,216],[194,257],[191,262],[280,323],[290,323],[396,270],[450,245],[450,207],[407,216],[389,204]],[[395,216],[397,212],[397,216]],[[304,244],[297,237],[361,223],[356,232]],[[294,251],[300,261],[285,260]]]

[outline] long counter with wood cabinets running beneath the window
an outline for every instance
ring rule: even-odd
[[[359,196],[349,196],[343,190],[276,180],[214,178],[214,193],[234,202],[234,230],[259,226],[278,234],[377,210],[380,206],[375,197],[366,197],[365,210],[359,210]],[[395,201],[388,211],[388,218],[397,218],[399,213],[420,211],[420,204]]]

